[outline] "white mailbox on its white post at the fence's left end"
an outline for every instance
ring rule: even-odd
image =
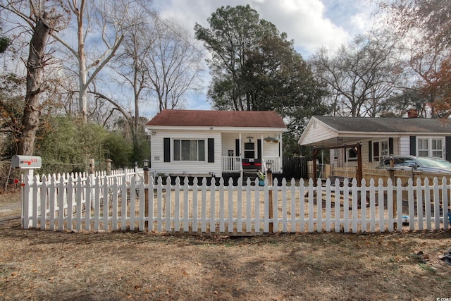
[[[32,199],[31,191],[29,191],[28,195],[25,195],[23,189],[23,183],[25,183],[26,176],[31,180],[34,176],[34,171],[36,168],[41,168],[42,159],[40,156],[19,156],[14,155],[11,158],[11,167],[20,168],[24,172],[22,173],[21,179],[21,198],[22,198],[22,213],[21,215],[21,223],[22,228],[27,229],[29,223],[29,216],[32,215],[33,208],[30,206],[30,199]],[[25,216],[26,214],[26,216]]]

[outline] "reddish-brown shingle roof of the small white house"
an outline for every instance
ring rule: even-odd
[[[286,128],[275,111],[163,110],[147,125]]]

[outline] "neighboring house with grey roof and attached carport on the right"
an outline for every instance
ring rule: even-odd
[[[333,147],[362,143],[362,163],[390,154],[437,156],[451,160],[451,120],[314,116],[299,145]],[[351,148],[330,149],[330,164],[356,166]]]

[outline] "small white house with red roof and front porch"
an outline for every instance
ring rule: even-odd
[[[243,176],[282,171],[282,133],[274,111],[163,110],[147,123],[153,176]]]

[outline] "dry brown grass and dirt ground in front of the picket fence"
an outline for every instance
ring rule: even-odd
[[[0,195],[0,300],[451,298],[451,231],[252,238],[24,231]]]

